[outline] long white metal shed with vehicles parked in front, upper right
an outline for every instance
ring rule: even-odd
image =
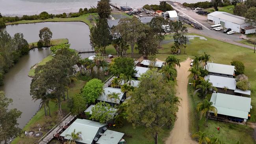
[[[245,22],[244,17],[232,15],[223,11],[214,11],[207,15],[207,20],[212,21],[213,24],[221,24],[223,28],[231,28],[237,33],[255,33],[255,27],[250,26],[250,23]]]

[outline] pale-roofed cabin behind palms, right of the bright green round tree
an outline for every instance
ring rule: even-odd
[[[121,89],[113,88],[113,87],[104,87],[104,92],[97,98],[98,101],[109,103],[110,105],[119,105],[124,102],[126,99],[126,95],[121,92]],[[109,99],[108,94],[112,94],[113,92],[119,94],[119,100],[115,100],[113,98]]]

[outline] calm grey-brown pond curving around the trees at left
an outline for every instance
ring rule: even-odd
[[[5,29],[11,36],[15,33],[23,33],[28,42],[39,40],[39,30],[48,27],[52,31],[52,39],[67,38],[71,44],[70,48],[81,49],[91,48],[89,44],[89,27],[83,22],[44,22],[35,24],[19,24],[6,26]],[[24,127],[32,116],[38,111],[39,100],[34,102],[30,96],[30,83],[32,78],[28,77],[31,66],[35,65],[50,54],[49,49],[33,49],[28,55],[20,58],[19,62],[10,68],[5,74],[4,90],[7,98],[13,99],[10,108],[17,108],[22,111],[19,118],[19,127]],[[89,57],[93,54],[83,54],[82,57]]]

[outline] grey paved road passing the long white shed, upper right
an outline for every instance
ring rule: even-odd
[[[203,30],[197,30],[195,28],[188,28],[189,32],[201,34],[206,37],[211,37],[211,38],[217,39],[219,41],[227,42],[230,44],[235,44],[235,45],[242,46],[245,48],[254,49],[253,46],[248,46],[248,45],[236,42],[236,41],[241,40],[241,39],[239,39],[239,37],[241,35],[240,33],[236,33],[233,35],[227,35],[226,33],[223,33],[222,31],[209,30],[210,26],[213,24],[211,24],[210,22],[207,21],[206,15],[198,15],[197,13],[195,13],[196,12],[195,10],[186,9],[180,3],[171,2],[171,1],[167,1],[167,3],[170,4],[171,6],[173,6],[173,8],[179,12],[179,15],[187,17],[191,21],[197,22],[198,24],[203,26]]]

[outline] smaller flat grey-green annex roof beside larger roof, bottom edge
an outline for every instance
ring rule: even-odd
[[[124,133],[117,131],[106,130],[104,134],[98,139],[96,144],[118,144]]]

